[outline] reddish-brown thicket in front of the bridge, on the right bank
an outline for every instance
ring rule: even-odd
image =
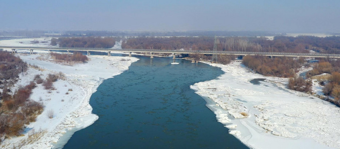
[[[266,56],[245,56],[242,63],[259,74],[294,77],[301,64],[304,63],[304,59],[295,60],[288,57],[275,57],[271,59]]]

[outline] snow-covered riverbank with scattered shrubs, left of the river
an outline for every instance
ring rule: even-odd
[[[56,89],[50,93],[43,89],[41,84],[37,85],[30,98],[43,102],[43,113],[36,118],[36,122],[27,126],[24,136],[5,139],[1,143],[1,149],[52,148],[66,130],[82,129],[91,125],[98,119],[97,115],[91,113],[92,107],[89,105],[91,94],[104,79],[121,74],[128,70],[131,63],[138,60],[128,57],[89,56],[89,62],[69,66],[55,64],[47,59],[37,59],[40,56],[48,57],[47,54],[18,55],[28,64],[38,66],[43,71],[29,68],[23,77],[20,76],[17,85],[27,84],[33,80],[35,74],[41,74],[41,77],[45,78],[47,74],[62,72],[66,74],[67,79],[54,82]],[[130,61],[121,61],[123,58]],[[47,116],[49,111],[54,113],[52,119]]]

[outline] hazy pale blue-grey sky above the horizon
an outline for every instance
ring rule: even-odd
[[[1,0],[10,29],[340,32],[340,0]]]

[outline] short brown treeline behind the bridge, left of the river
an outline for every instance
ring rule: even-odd
[[[111,37],[60,37],[52,38],[51,45],[68,48],[112,48],[116,40]]]

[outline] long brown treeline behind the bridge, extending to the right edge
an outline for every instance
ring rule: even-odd
[[[340,37],[276,36],[274,40],[265,37],[218,37],[218,51],[252,51],[309,53],[340,53]],[[212,50],[214,37],[137,37],[122,43],[123,49],[162,50]]]

